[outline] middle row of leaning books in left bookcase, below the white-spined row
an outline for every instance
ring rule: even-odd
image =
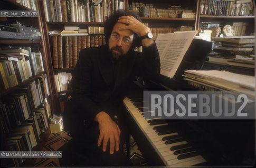
[[[4,121],[1,122],[1,127],[5,133],[12,133],[18,125],[31,118],[33,112],[39,112],[39,107],[47,106],[46,90],[48,87],[46,87],[45,77],[46,75],[31,81],[1,100],[1,118]],[[45,113],[44,116],[46,117],[48,114]],[[48,127],[48,124],[46,126]]]

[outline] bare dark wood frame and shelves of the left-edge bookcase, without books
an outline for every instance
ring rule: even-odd
[[[44,38],[44,33],[47,32],[43,29],[43,21],[42,21],[42,12],[40,10],[40,6],[38,4],[38,1],[35,1],[35,6],[37,11],[39,12],[39,16],[38,17],[1,17],[0,20],[3,22],[14,22],[14,21],[18,21],[20,23],[22,23],[23,25],[29,25],[32,26],[34,28],[37,28],[40,30],[41,33],[41,39],[40,40],[20,40],[20,39],[0,39],[0,49],[3,49],[5,47],[31,47],[32,49],[38,49],[40,51],[40,53],[42,54],[42,58],[43,58],[43,65],[44,65],[44,71],[40,71],[38,72],[35,76],[30,77],[29,79],[26,79],[25,81],[18,83],[18,85],[14,86],[14,87],[10,87],[8,89],[5,89],[5,87],[1,87],[3,88],[0,91],[0,100],[2,103],[2,100],[4,98],[4,96],[7,96],[9,94],[15,93],[15,91],[19,88],[22,88],[23,86],[27,85],[28,83],[30,83],[31,81],[42,77],[43,74],[47,75],[48,78],[48,82],[49,82],[49,92],[50,92],[50,96],[46,95],[46,92],[44,97],[46,97],[48,104],[50,104],[50,109],[51,112],[54,113],[53,111],[53,99],[52,99],[52,95],[53,95],[53,89],[52,89],[52,85],[50,83],[50,77],[51,77],[51,71],[49,71],[49,57],[47,55],[46,52],[46,39]],[[0,9],[1,10],[32,10],[28,7],[25,7],[19,3],[16,3],[15,1],[1,1],[0,2]],[[2,78],[2,76],[0,77]],[[1,79],[2,80],[2,79]],[[3,83],[2,83],[3,84]],[[1,122],[2,120],[2,115],[1,115]],[[3,123],[2,123],[3,124]],[[46,141],[46,138],[48,138],[50,135],[50,128],[48,127],[44,132],[41,132],[40,134],[40,140],[39,142],[37,142],[37,145],[33,147],[33,151],[41,151],[41,149],[43,148],[43,145]],[[8,149],[8,145],[7,145],[7,140],[6,138],[8,137],[8,133],[6,133],[3,130],[3,127],[1,125],[1,151],[10,151],[10,149]],[[35,159],[26,159],[22,165],[23,166],[34,166]],[[1,166],[13,166],[13,160],[12,159],[1,159]]]

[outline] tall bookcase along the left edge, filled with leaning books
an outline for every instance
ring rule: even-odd
[[[43,36],[44,29],[42,26],[42,15],[39,8],[39,4],[37,1],[30,1],[30,3],[27,3],[25,1],[20,1],[20,3],[17,3],[18,1],[1,1],[0,2],[0,9],[1,10],[32,10],[35,9],[39,12],[38,17],[1,17],[1,25],[5,23],[16,23],[20,22],[23,25],[29,25],[33,28],[37,28],[40,31],[41,38],[40,39],[0,39],[0,49],[5,48],[24,48],[24,47],[30,47],[32,53],[41,53],[42,55],[42,64],[44,66],[44,70],[42,71],[34,71],[35,74],[29,75],[27,74],[27,71],[24,69],[20,69],[20,67],[14,68],[15,74],[12,76],[12,79],[8,79],[7,75],[5,74],[6,71],[3,69],[3,73],[6,76],[2,76],[1,72],[1,91],[0,91],[0,111],[1,111],[1,151],[22,151],[26,146],[26,150],[32,150],[32,151],[41,151],[43,148],[43,145],[45,143],[46,138],[50,135],[50,128],[46,125],[46,123],[49,122],[49,117],[47,115],[50,115],[51,112],[53,112],[53,104],[52,104],[52,95],[53,90],[52,86],[50,84],[50,71],[49,71],[49,64],[48,64],[48,55],[46,53],[46,47],[45,47],[45,38]],[[26,5],[26,6],[24,6]],[[31,54],[31,53],[30,53]],[[30,58],[31,56],[29,54]],[[33,53],[34,54],[34,53]],[[24,56],[25,58],[25,56]],[[21,60],[19,60],[21,61]],[[1,61],[6,62],[8,65],[13,66],[14,63],[12,61]],[[18,62],[18,61],[17,61]],[[31,60],[30,60],[31,62]],[[34,63],[32,63],[34,67],[36,66]],[[32,64],[28,64],[32,70]],[[13,71],[13,72],[14,72]],[[25,76],[27,78],[23,78],[22,81],[17,81],[15,85],[3,85],[3,80],[7,79],[8,81],[13,80],[14,78],[17,78],[17,74],[20,76]],[[33,71],[32,71],[33,73]],[[48,81],[48,82],[46,82]],[[38,82],[35,84],[37,87],[32,88],[32,83]],[[40,83],[41,82],[41,83]],[[5,83],[6,84],[6,83]],[[47,88],[47,90],[46,90]],[[31,90],[30,90],[31,89]],[[35,90],[38,91],[38,93],[35,92]],[[30,92],[30,91],[32,92]],[[10,100],[9,100],[10,98]],[[24,98],[25,101],[22,99]],[[36,100],[34,100],[36,99]],[[15,100],[14,102],[11,102],[11,100]],[[38,101],[37,101],[38,100]],[[26,102],[25,104],[23,102]],[[38,103],[38,104],[35,104]],[[26,108],[26,110],[25,110]],[[29,110],[30,109],[30,110]],[[39,109],[44,110],[44,114],[37,113]],[[29,112],[25,117],[25,111]],[[37,111],[37,112],[36,112]],[[11,115],[11,116],[10,116]],[[44,116],[43,116],[44,115]],[[38,118],[39,117],[39,120]],[[45,118],[44,118],[45,117]],[[15,118],[15,120],[13,119]],[[32,122],[29,120],[33,119]],[[39,123],[39,121],[43,121],[44,123]],[[26,123],[29,123],[26,126]],[[10,127],[11,125],[15,125]],[[39,127],[36,127],[38,125]],[[34,137],[31,134],[32,138],[35,138],[36,143],[33,145],[31,144],[30,140],[27,139],[25,135],[28,135],[27,133],[22,133],[17,131],[18,128],[30,128],[30,133],[34,132]],[[42,127],[42,128],[41,128]],[[19,134],[19,135],[18,135]],[[16,141],[17,147],[13,148],[13,146],[10,144],[10,141],[8,141],[8,138],[13,137],[22,137],[21,139],[18,139]],[[23,144],[23,145],[22,145]],[[10,149],[12,146],[12,149]],[[30,146],[30,147],[29,147]],[[22,148],[22,149],[20,149]],[[20,149],[20,150],[17,150]],[[21,160],[15,160],[15,159],[1,159],[1,167],[2,166],[34,166],[35,159],[24,159]]]

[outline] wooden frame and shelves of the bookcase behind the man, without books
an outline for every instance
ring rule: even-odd
[[[153,4],[154,8],[159,9],[167,9],[172,5],[181,5],[186,9],[190,9],[195,13],[194,18],[170,18],[170,17],[141,17],[144,23],[148,23],[148,27],[150,28],[177,28],[179,26],[192,26],[193,30],[198,30],[199,24],[202,20],[212,21],[216,23],[232,23],[232,22],[249,22],[250,24],[247,26],[246,35],[250,35],[254,33],[254,16],[216,16],[216,15],[200,15],[200,4],[202,0],[124,0],[124,9],[129,9],[129,5],[134,2],[141,2],[144,4]],[[59,104],[59,96],[60,94],[67,93],[70,94],[71,90],[58,92],[54,83],[54,74],[58,72],[72,72],[74,68],[61,68],[54,69],[53,68],[53,54],[52,54],[52,42],[50,36],[48,36],[48,31],[50,30],[63,30],[64,26],[79,26],[80,28],[88,28],[88,26],[103,26],[102,22],[45,22],[44,17],[44,7],[43,2],[39,2],[42,12],[42,23],[43,29],[45,30],[45,42],[46,42],[46,52],[49,55],[48,65],[50,70],[50,78],[51,78],[51,86],[53,89],[53,102],[54,102],[54,112],[55,114],[60,114],[60,104]],[[63,40],[62,40],[63,44]]]

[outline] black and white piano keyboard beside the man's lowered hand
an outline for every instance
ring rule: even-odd
[[[150,107],[143,107],[143,100],[125,98],[124,104],[166,166],[187,167],[206,162],[178,132],[168,130],[167,122],[146,120],[143,114],[150,112]]]

